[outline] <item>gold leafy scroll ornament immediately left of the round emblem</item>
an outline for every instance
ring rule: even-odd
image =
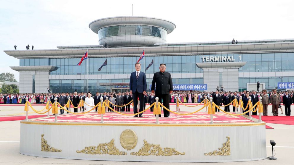
[[[109,155],[127,155],[126,152],[120,152],[116,146],[114,145],[114,139],[112,139],[109,143],[101,143],[96,146],[85,147],[85,149],[79,151],[76,150],[77,153],[87,153],[90,155],[96,154],[109,154]]]

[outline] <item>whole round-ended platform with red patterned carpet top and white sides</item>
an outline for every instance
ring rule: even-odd
[[[156,118],[65,114],[21,121],[20,153],[48,158],[106,161],[228,162],[266,158],[265,123],[207,113]],[[53,119],[53,121],[51,121]],[[116,120],[115,120],[116,119]]]

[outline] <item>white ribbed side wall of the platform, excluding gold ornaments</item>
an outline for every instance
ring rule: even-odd
[[[138,137],[137,144],[127,151],[120,143],[124,130],[130,129]],[[61,152],[41,151],[41,135],[50,147]],[[229,137],[229,155],[204,155],[223,147]],[[77,153],[85,147],[96,147],[114,139],[114,146],[123,155]],[[171,156],[136,156],[144,145],[160,145],[174,148],[181,154]],[[228,145],[225,145],[228,147]],[[50,148],[49,147],[49,148]],[[107,148],[107,147],[106,147]],[[153,147],[151,147],[152,150]],[[48,158],[106,160],[106,161],[150,161],[150,162],[230,162],[253,161],[266,158],[265,123],[241,124],[92,124],[92,123],[48,123],[22,121],[20,127],[20,153]],[[147,153],[151,153],[149,150]],[[155,153],[158,153],[156,151]],[[184,153],[184,154],[183,154]],[[221,152],[223,153],[223,152]],[[225,154],[227,154],[226,152]],[[183,155],[182,155],[183,154]]]

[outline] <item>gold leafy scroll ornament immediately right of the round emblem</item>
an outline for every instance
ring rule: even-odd
[[[156,156],[173,156],[173,155],[185,155],[185,152],[180,153],[176,151],[175,148],[165,147],[163,150],[159,146],[159,144],[149,144],[146,140],[144,140],[144,146],[138,152],[132,152],[131,155],[136,156],[148,156],[148,155],[156,155]]]

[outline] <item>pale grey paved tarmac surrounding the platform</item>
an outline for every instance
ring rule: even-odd
[[[35,109],[43,109],[44,106],[34,106]],[[181,111],[195,111],[198,108],[189,108],[180,105]],[[202,107],[202,106],[200,106]],[[199,107],[199,108],[200,108]],[[282,106],[283,107],[283,106]],[[284,108],[284,107],[283,107]],[[175,109],[175,106],[170,106],[170,109]],[[271,106],[268,107],[269,115],[271,115]],[[204,112],[202,110],[202,112]],[[231,108],[232,111],[232,108]],[[279,113],[281,111],[279,110]],[[24,106],[0,106],[0,117],[7,116],[23,116],[25,115]],[[29,115],[37,115],[32,110]],[[284,116],[282,114],[282,116]],[[107,122],[107,121],[106,121]],[[170,163],[170,162],[121,162],[121,161],[88,161],[88,160],[71,160],[57,158],[43,158],[36,156],[27,156],[19,153],[20,141],[20,121],[0,122],[0,165],[73,165],[73,164],[98,164],[98,165],[195,165],[195,164],[218,164],[218,165],[293,165],[292,156],[294,155],[294,125],[270,124],[266,125],[274,129],[266,129],[266,145],[267,156],[271,156],[270,140],[275,140],[277,143],[274,147],[276,151],[275,157],[277,160],[260,160],[246,162],[223,162],[223,163]]]

